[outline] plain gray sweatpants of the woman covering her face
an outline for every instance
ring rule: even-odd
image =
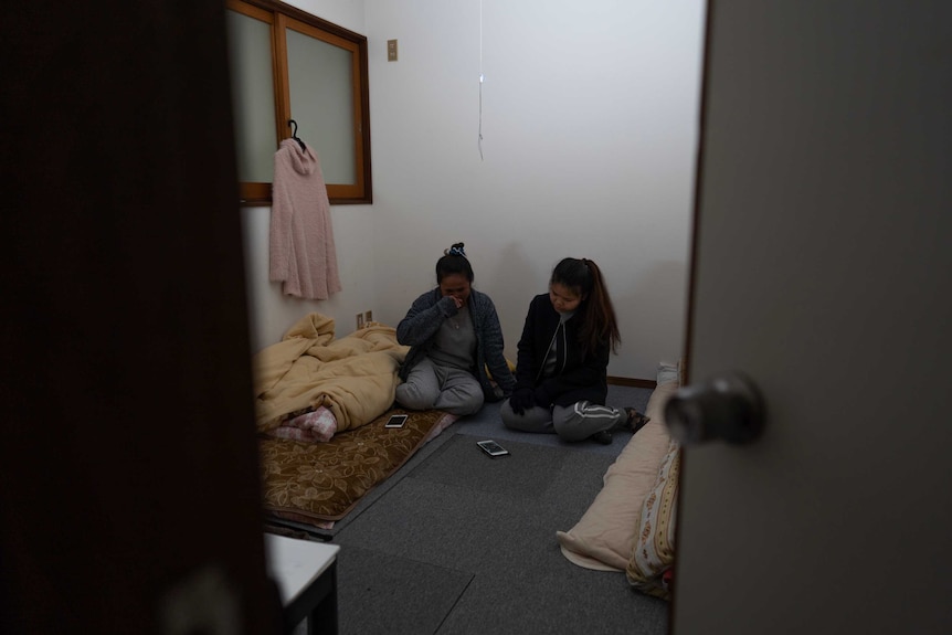
[[[457,368],[423,358],[396,387],[396,403],[410,410],[443,410],[463,416],[483,408],[479,380]]]

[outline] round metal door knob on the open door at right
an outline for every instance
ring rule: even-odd
[[[738,445],[750,443],[763,430],[763,399],[750,379],[726,372],[678,389],[665,404],[665,422],[681,445],[718,438]]]

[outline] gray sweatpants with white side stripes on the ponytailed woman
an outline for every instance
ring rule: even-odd
[[[548,408],[533,405],[522,414],[516,414],[507,399],[499,413],[503,424],[522,432],[556,433],[565,441],[582,441],[596,432],[611,430],[627,419],[623,409],[579,401],[569,406]]]

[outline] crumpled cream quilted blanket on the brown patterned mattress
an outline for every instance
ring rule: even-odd
[[[371,324],[335,339],[332,318],[308,314],[252,360],[258,432],[321,405],[334,413],[337,432],[370,423],[393,405],[409,350],[392,327]]]

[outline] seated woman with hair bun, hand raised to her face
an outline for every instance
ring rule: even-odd
[[[508,396],[516,383],[503,353],[496,306],[473,288],[463,247],[456,243],[443,253],[436,288],[416,298],[396,325],[396,340],[410,346],[396,387],[403,408],[473,414],[484,402]]]

